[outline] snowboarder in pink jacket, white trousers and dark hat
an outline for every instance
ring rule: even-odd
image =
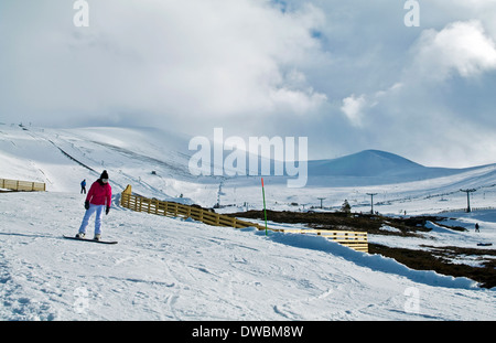
[[[100,179],[95,181],[89,187],[89,192],[86,195],[85,208],[86,213],[80,224],[77,238],[84,238],[86,235],[86,226],[88,226],[89,218],[96,213],[95,218],[95,238],[100,239],[101,236],[101,216],[107,215],[110,211],[110,204],[112,199],[112,189],[108,183],[108,173],[106,170],[100,175]]]

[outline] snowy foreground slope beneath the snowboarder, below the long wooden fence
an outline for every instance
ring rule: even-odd
[[[321,237],[116,207],[118,245],[63,239],[83,213],[75,193],[0,196],[0,320],[496,319],[494,290]]]

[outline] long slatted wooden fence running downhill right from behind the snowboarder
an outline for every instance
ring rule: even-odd
[[[131,192],[131,185],[128,185],[121,193],[120,204],[122,207],[130,208],[137,212],[147,212],[150,214],[192,218],[213,226],[225,227],[255,227],[259,231],[265,231],[266,227],[256,223],[238,219],[236,217],[218,214],[196,206],[188,206],[179,203],[163,202],[155,199],[148,199],[140,195],[134,195]],[[273,232],[282,232],[290,234],[309,234],[323,236],[344,246],[351,247],[357,251],[368,253],[368,239],[366,232],[349,232],[349,231],[324,231],[324,229],[282,229],[270,228]]]

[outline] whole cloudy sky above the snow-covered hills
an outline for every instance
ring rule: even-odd
[[[0,122],[308,137],[496,162],[496,0],[0,1]]]

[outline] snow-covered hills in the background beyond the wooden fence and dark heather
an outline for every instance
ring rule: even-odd
[[[43,129],[0,125],[0,178],[45,182],[48,191],[77,191],[106,169],[116,192],[127,184],[134,192],[162,200],[248,205],[260,208],[259,176],[194,176],[188,170],[190,137],[150,128]],[[378,193],[385,213],[461,208],[461,187],[479,190],[473,205],[493,206],[496,165],[470,169],[428,168],[399,156],[367,150],[352,156],[309,161],[305,187],[288,189],[285,176],[269,176],[267,203],[341,206],[367,211],[368,192]],[[181,196],[182,195],[182,196]],[[496,194],[495,194],[496,195]],[[442,200],[442,202],[441,202]],[[291,208],[294,210],[294,208]]]

